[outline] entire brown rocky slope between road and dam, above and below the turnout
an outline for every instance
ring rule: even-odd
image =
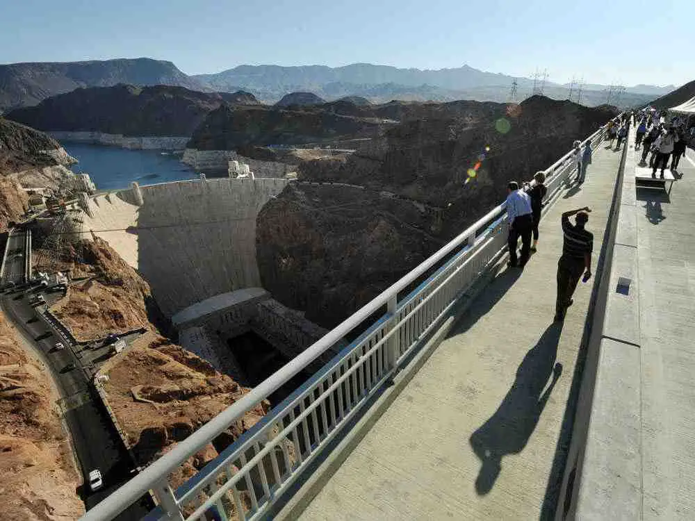
[[[38,233],[35,244],[40,246],[40,240]],[[40,251],[35,257],[40,263]],[[140,464],[152,463],[248,392],[158,333],[153,322],[161,315],[150,297],[149,284],[108,242],[87,240],[81,254],[74,245],[67,248],[59,268],[86,277],[74,283],[51,308],[76,338],[88,341],[104,338],[107,332],[146,329],[133,345],[101,368],[109,378],[105,384],[109,404]],[[178,486],[195,469],[202,468],[250,429],[268,408],[263,402],[249,411],[213,445],[190,458],[172,484]]]

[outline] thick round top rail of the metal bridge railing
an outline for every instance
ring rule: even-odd
[[[605,125],[601,126],[596,132],[592,133],[589,138],[583,140],[582,143],[593,140],[604,128]],[[562,165],[562,163],[568,158],[571,158],[573,154],[574,149],[570,150],[562,156],[562,158],[553,163],[545,172],[549,172],[558,165]],[[270,377],[259,383],[258,386],[252,388],[250,392],[237,402],[231,404],[231,406],[213,417],[209,422],[197,429],[197,431],[191,433],[188,438],[177,443],[177,446],[170,452],[158,458],[154,463],[145,468],[145,470],[142,470],[140,474],[133,477],[133,479],[125,483],[121,488],[106,497],[106,499],[97,504],[95,508],[85,513],[81,519],[83,521],[111,519],[124,511],[142,495],[147,493],[148,490],[154,488],[156,483],[159,483],[163,477],[167,477],[171,472],[176,470],[181,463],[204,448],[211,440],[219,436],[222,431],[228,429],[229,425],[233,424],[247,411],[254,408],[254,406],[259,404],[263,399],[266,399],[272,392],[275,392],[275,390],[283,386],[288,380],[294,377],[295,374],[303,370],[307,365],[318,358],[318,356],[335,345],[336,342],[342,340],[347,333],[354,330],[364,320],[370,317],[370,315],[375,313],[375,311],[385,306],[389,302],[389,299],[394,296],[397,297],[399,292],[425,274],[425,272],[430,270],[436,263],[443,260],[451,251],[464,245],[468,241],[468,238],[471,236],[475,237],[475,233],[478,229],[482,226],[486,226],[493,219],[502,215],[502,213],[505,212],[505,208],[506,202],[503,202],[486,213],[484,217],[481,217],[474,224],[468,226],[465,231],[459,233],[454,239],[450,240],[450,242],[423,261],[423,263],[420,263],[420,265],[416,266],[409,273],[402,276],[400,280],[393,283],[389,288],[368,302],[368,304],[359,308],[359,310],[343,320],[341,324],[338,324],[338,326],[329,331],[325,336],[320,338],[320,340],[314,342],[302,353],[286,363],[275,373],[271,374]]]

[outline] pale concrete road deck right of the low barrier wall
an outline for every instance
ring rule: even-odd
[[[634,165],[630,161],[626,167]],[[695,154],[670,197],[637,192],[641,510],[643,519],[695,515]],[[628,171],[626,170],[626,179]],[[638,483],[639,485],[639,483]]]

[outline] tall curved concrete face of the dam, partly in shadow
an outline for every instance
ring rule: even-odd
[[[83,232],[142,274],[165,315],[222,292],[261,286],[256,216],[286,179],[179,181],[99,195]]]

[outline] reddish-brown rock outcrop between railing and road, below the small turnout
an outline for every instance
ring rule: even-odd
[[[112,363],[113,362],[113,363]],[[138,463],[147,465],[249,390],[156,333],[146,333],[102,370],[105,390]],[[267,402],[249,411],[174,474],[177,487],[261,420]]]

